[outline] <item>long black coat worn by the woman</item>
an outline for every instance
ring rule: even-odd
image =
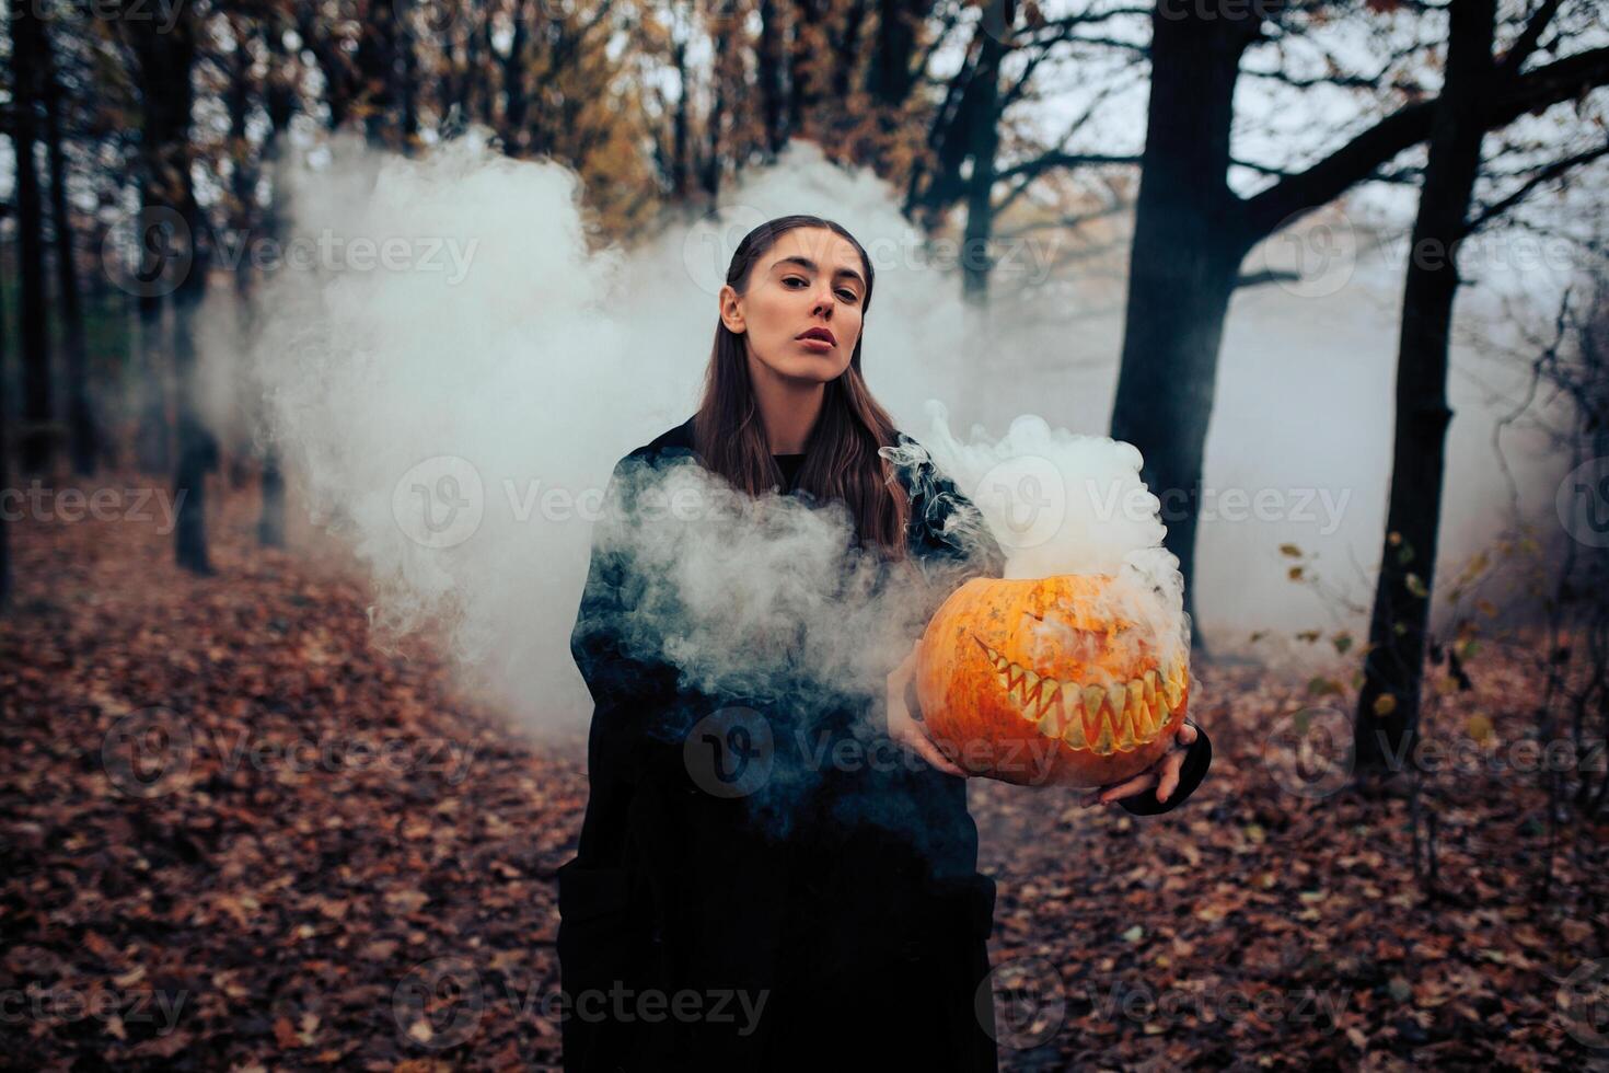
[[[623,458],[610,497],[639,463],[676,458],[702,462],[692,420]],[[1001,576],[998,545],[962,549],[943,531],[949,512],[975,507],[925,476],[906,484],[907,547],[924,571],[948,571],[940,598],[965,576]],[[986,989],[977,1001],[994,882],[977,872],[965,780],[925,763],[806,766],[779,732],[772,771],[808,767],[804,790],[792,777],[735,798],[700,788],[682,738],[734,698],[687,692],[669,663],[621,652],[611,624],[631,615],[642,582],[594,541],[571,634],[595,701],[591,796],[576,856],[558,872],[566,1073],[994,1070]],[[864,734],[877,705],[837,700],[817,706],[830,740],[851,738],[858,719]],[[785,713],[766,714],[787,726]],[[1165,806],[1146,796],[1123,808],[1170,811],[1208,761],[1204,734]]]

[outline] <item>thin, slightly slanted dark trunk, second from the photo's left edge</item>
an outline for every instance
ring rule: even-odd
[[[100,430],[90,405],[88,347],[84,339],[84,301],[72,249],[72,217],[68,214],[68,161],[61,148],[61,84],[50,35],[39,34],[39,64],[45,98],[45,153],[50,161],[50,219],[56,228],[56,301],[66,346],[68,434],[72,471],[88,476],[100,455]]]

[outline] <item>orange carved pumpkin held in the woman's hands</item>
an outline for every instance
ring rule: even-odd
[[[917,650],[927,734],[961,767],[1018,785],[1101,787],[1154,764],[1184,722],[1183,645],[1102,618],[1107,574],[973,578]],[[1110,603],[1110,600],[1107,602]]]

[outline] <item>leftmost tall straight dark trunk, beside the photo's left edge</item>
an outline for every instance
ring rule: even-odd
[[[34,164],[37,138],[35,103],[39,74],[39,19],[29,0],[11,0],[11,138],[16,151],[16,233],[19,246],[19,323],[23,349],[23,473],[42,473],[50,463],[48,434],[51,412],[50,383],[50,291],[45,275],[43,208],[39,171]]]

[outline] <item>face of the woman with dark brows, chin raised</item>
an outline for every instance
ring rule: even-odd
[[[864,299],[854,246],[825,227],[795,227],[755,261],[747,294],[721,288],[721,320],[747,338],[751,368],[827,383],[850,367]]]

